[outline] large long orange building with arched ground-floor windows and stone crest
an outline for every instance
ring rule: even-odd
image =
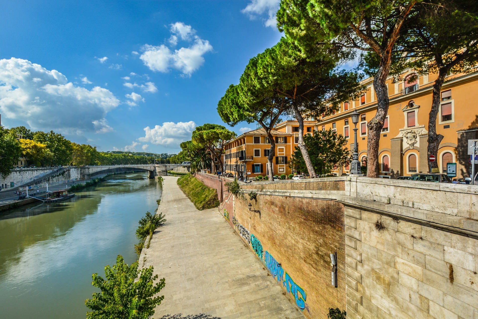
[[[428,172],[427,138],[428,113],[432,105],[432,89],[436,75],[420,75],[412,83],[407,79],[414,74],[409,69],[402,80],[387,79],[390,107],[380,136],[379,174],[383,178],[410,176]],[[478,139],[478,71],[469,74],[451,75],[441,91],[440,110],[436,131],[444,139],[438,149],[438,167],[446,173],[447,163],[456,163],[458,177],[470,175],[467,143]],[[304,133],[308,130],[335,130],[348,139],[348,149],[353,149],[354,124],[350,114],[357,110],[360,121],[357,124],[359,160],[367,161],[367,122],[377,110],[377,96],[372,86],[373,78],[362,83],[366,91],[359,99],[340,104],[340,110],[319,121],[304,121]],[[296,128],[297,127],[297,128]],[[284,121],[276,126],[281,132],[291,134],[298,131],[297,121]],[[294,131],[295,130],[295,131]],[[295,139],[296,140],[296,139]],[[349,166],[337,170],[337,175],[348,173]]]

